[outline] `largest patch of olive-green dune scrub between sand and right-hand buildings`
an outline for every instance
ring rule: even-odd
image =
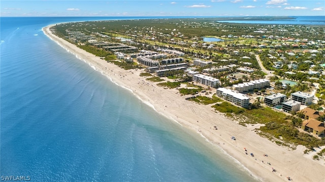
[[[198,102],[198,100],[194,100]],[[221,104],[215,104],[212,106],[216,110],[222,113],[226,113],[231,116],[231,114],[236,114],[237,116],[242,116],[246,118],[245,121],[241,121],[240,124],[245,125],[261,123],[265,126],[261,126],[259,129],[262,132],[258,132],[261,136],[274,141],[278,145],[288,146],[303,145],[310,149],[318,146],[325,145],[325,139],[317,139],[311,134],[299,132],[295,127],[299,127],[302,123],[300,118],[293,116],[286,116],[283,113],[276,112],[268,107],[257,107],[257,109],[243,109],[234,106],[228,102],[223,102]],[[308,151],[305,151],[308,153]]]

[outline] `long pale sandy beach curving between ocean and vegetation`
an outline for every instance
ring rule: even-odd
[[[185,129],[196,132],[210,144],[220,147],[257,180],[287,181],[286,176],[290,176],[295,181],[325,181],[324,164],[307,158],[306,154],[303,154],[305,147],[298,146],[296,150],[289,151],[285,147],[278,146],[252,131],[256,126],[239,125],[216,113],[209,105],[186,101],[186,96],[175,94],[177,92],[175,88],[165,89],[157,86],[155,82],[146,80],[146,77],[139,76],[139,73],[143,72],[140,69],[124,70],[55,36],[50,31],[52,26],[54,25],[44,27],[42,30],[63,49],[108,77],[113,83],[130,90],[158,114],[175,121]],[[215,130],[214,126],[218,129]],[[236,136],[236,141],[231,140],[233,135]],[[244,148],[255,157],[246,155]],[[268,154],[268,157],[263,156],[264,154]],[[277,171],[272,172],[272,168]]]

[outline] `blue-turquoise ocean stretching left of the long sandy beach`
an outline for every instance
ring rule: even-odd
[[[106,19],[123,18],[1,17],[1,179],[255,181],[42,31]]]

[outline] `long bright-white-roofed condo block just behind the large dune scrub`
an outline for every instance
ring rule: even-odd
[[[249,98],[232,89],[224,87],[217,88],[217,96],[243,108],[247,108],[249,106]]]

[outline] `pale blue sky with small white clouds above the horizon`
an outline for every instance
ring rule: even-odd
[[[0,16],[325,16],[325,1],[0,1]]]

